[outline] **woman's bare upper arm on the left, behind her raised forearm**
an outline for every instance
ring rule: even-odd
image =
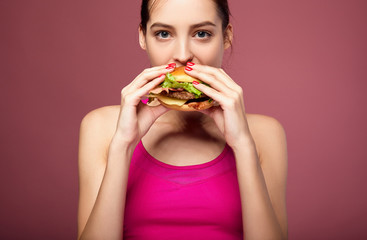
[[[107,119],[106,109],[101,108],[88,113],[80,125],[78,236],[87,223],[106,169],[112,135]]]

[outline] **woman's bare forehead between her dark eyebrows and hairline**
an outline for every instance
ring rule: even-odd
[[[211,21],[218,25],[221,19],[213,0],[155,0],[151,1],[148,25],[154,22],[169,24]],[[153,6],[152,6],[153,4]]]

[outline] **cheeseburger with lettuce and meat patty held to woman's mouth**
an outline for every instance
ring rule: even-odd
[[[213,100],[199,91],[192,84],[200,80],[185,73],[185,67],[178,67],[173,72],[167,73],[159,87],[149,93],[148,105],[159,104],[179,111],[198,111],[213,106]]]

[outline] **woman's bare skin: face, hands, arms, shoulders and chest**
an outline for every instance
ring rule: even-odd
[[[231,25],[223,32],[211,0],[156,2],[146,34],[139,29],[152,67],[122,89],[120,106],[96,109],[81,123],[78,238],[123,238],[130,159],[142,140],[155,158],[177,166],[208,162],[227,143],[236,157],[244,238],[287,239],[285,133],[274,118],[246,113],[242,88],[220,69],[232,32]],[[195,64],[186,72],[211,86],[196,87],[219,106],[179,112],[141,103],[173,71],[167,64],[187,62]]]

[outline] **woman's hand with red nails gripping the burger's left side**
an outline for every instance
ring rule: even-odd
[[[121,91],[121,108],[115,137],[127,146],[135,147],[152,124],[165,112],[166,107],[148,106],[141,102],[150,90],[161,83],[165,74],[173,71],[174,64],[145,69]]]

